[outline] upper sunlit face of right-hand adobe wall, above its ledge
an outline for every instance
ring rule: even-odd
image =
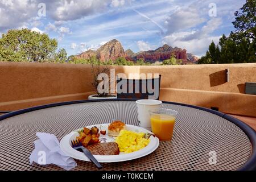
[[[229,69],[229,82],[225,69]],[[140,71],[160,73],[162,88],[245,93],[245,82],[256,81],[256,63],[143,66]]]

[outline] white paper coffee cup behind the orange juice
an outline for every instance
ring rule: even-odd
[[[162,101],[138,100],[136,101],[139,126],[151,131],[150,110],[159,109]]]

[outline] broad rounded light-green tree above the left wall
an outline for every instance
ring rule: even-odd
[[[28,30],[9,30],[0,39],[0,60],[44,62],[51,60],[57,40],[47,34]]]

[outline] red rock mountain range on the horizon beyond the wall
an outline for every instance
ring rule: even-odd
[[[110,42],[102,45],[97,51],[93,51],[89,49],[81,53],[80,55],[76,55],[78,58],[89,59],[91,56],[96,56],[97,59],[102,61],[105,60],[115,60],[118,57],[125,57],[130,61],[137,61],[138,59],[143,59],[146,62],[155,63],[155,61],[163,61],[166,59],[170,59],[171,55],[174,54],[176,59],[181,59],[183,64],[195,64],[198,60],[198,57],[192,55],[191,53],[187,53],[186,49],[181,49],[178,47],[172,48],[167,44],[159,47],[155,50],[150,51],[140,51],[138,53],[134,53],[131,49],[123,50],[122,44],[113,39]]]

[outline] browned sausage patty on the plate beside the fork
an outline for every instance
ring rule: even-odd
[[[115,142],[96,143],[86,146],[93,155],[118,155],[119,148]]]

